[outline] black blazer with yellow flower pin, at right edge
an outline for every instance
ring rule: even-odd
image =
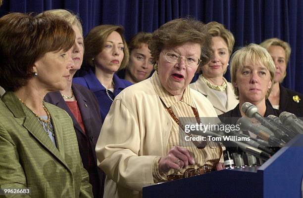
[[[299,96],[301,99],[298,103],[294,100],[294,96]],[[279,110],[295,114],[297,117],[303,117],[303,94],[285,88],[280,84],[280,102]]]

